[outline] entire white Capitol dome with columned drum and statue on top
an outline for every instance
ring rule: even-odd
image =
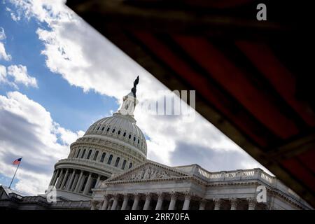
[[[49,186],[57,195],[90,200],[99,183],[146,161],[146,138],[133,115],[138,82],[139,77],[113,116],[92,124],[71,144],[68,158],[55,164]]]

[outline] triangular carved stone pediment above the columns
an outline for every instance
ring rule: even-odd
[[[127,171],[118,176],[114,176],[108,181],[150,181],[155,179],[173,179],[188,176],[188,174],[161,165],[158,162],[144,162],[144,164],[134,167],[134,169]]]

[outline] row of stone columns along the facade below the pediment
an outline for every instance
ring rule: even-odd
[[[144,202],[144,207],[142,208],[143,210],[148,210],[150,209],[150,204],[151,204],[151,200],[153,195],[157,195],[158,196],[158,200],[157,203],[155,205],[155,210],[160,210],[162,208],[162,203],[165,199],[165,196],[170,196],[170,201],[169,201],[169,206],[168,206],[168,210],[174,210],[175,209],[175,205],[176,205],[176,201],[178,200],[179,195],[183,195],[184,197],[184,201],[183,201],[183,207],[182,210],[188,210],[190,209],[190,200],[193,196],[193,194],[191,193],[146,193],[146,194],[142,194],[145,196],[146,200]],[[129,202],[130,199],[133,200],[132,202],[132,210],[137,210],[138,209],[138,205],[139,205],[139,201],[140,201],[140,197],[141,195],[139,193],[134,193],[133,195],[130,194],[124,194],[124,195],[120,195],[120,194],[116,194],[116,195],[104,195],[104,201],[92,201],[92,206],[91,209],[94,210],[97,206],[98,203],[101,203],[102,206],[99,208],[100,210],[116,210],[118,208],[118,203],[120,202],[120,198],[123,197],[123,203],[121,204],[120,209],[121,210],[126,210],[127,209],[127,204]],[[246,199],[248,202],[248,210],[254,210],[255,209],[255,200],[253,200],[253,198],[248,198]],[[206,208],[206,204],[208,202],[208,200],[204,200],[204,199],[199,199],[198,200],[200,202],[199,204],[199,209],[200,210],[204,210]],[[226,200],[222,200],[222,199],[214,199],[212,200],[214,202],[214,210],[220,210],[221,209],[221,204],[223,202],[226,202]],[[112,202],[112,204],[110,203]],[[237,210],[237,205],[239,204],[239,202],[241,202],[241,200],[238,200],[237,198],[231,198],[230,199],[230,209],[231,210]]]

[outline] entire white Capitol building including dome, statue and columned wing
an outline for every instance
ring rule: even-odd
[[[146,138],[133,115],[136,81],[113,116],[98,120],[71,144],[68,158],[55,164],[45,194],[27,196],[0,186],[0,208],[312,209],[259,168],[211,172],[196,164],[169,167],[148,160]],[[258,186],[265,188],[265,202],[258,201]],[[52,193],[55,198],[50,201]]]

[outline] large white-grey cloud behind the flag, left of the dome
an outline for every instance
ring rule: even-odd
[[[20,92],[0,95],[0,171],[13,176],[12,161],[23,156],[16,189],[43,193],[53,166],[69,154],[69,143],[82,135],[60,127],[48,111]],[[63,144],[58,143],[58,139]]]

